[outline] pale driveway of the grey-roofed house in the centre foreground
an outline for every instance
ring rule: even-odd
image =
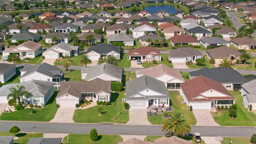
[[[151,125],[148,121],[146,108],[130,108],[127,125]]]

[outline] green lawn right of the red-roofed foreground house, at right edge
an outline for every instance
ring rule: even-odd
[[[230,119],[229,112],[223,110],[221,112],[212,113],[212,116],[221,126],[256,126],[256,115],[253,112],[249,112],[248,109],[243,106],[243,96],[241,92],[229,91],[236,99],[237,104],[237,117],[233,120]]]

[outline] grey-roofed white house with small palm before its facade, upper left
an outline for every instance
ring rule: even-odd
[[[59,38],[58,41],[52,41],[53,36],[57,36]],[[55,42],[56,44],[61,42],[68,43],[70,41],[70,35],[62,32],[51,32],[46,34],[43,39],[45,40],[45,43],[52,43],[52,42]]]

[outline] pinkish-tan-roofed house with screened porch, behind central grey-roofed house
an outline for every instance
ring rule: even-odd
[[[147,75],[164,82],[168,90],[180,90],[180,84],[185,82],[179,70],[159,64],[147,69],[136,70],[136,78]]]

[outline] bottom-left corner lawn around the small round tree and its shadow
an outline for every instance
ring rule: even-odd
[[[9,132],[0,132],[0,136],[14,136],[14,134]],[[26,144],[30,138],[42,138],[43,133],[17,133],[19,139],[13,140],[15,144]]]

